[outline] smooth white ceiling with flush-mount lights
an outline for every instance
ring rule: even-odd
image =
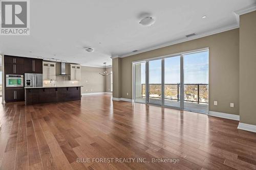
[[[127,56],[185,35],[238,25],[234,11],[256,0],[30,1],[30,36],[0,36],[0,54],[56,58],[88,66]],[[151,27],[139,24],[152,16]],[[206,15],[206,18],[202,16]],[[93,47],[88,53],[84,47]]]

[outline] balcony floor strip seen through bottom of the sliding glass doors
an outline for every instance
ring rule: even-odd
[[[145,98],[136,98],[135,102],[145,103]],[[161,105],[161,99],[150,98],[150,103]],[[180,102],[177,101],[165,100],[164,103],[166,106],[180,107]],[[184,109],[206,114],[208,113],[208,104],[184,102]]]

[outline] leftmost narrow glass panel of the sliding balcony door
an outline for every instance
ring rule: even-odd
[[[146,62],[134,64],[134,100],[138,103],[146,102]]]

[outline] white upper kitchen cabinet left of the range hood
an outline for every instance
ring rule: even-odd
[[[42,77],[44,80],[56,80],[56,63],[43,61]]]

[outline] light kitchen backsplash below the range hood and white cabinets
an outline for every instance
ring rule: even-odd
[[[50,80],[44,80],[43,86],[77,86],[80,85],[79,81],[71,81],[69,80],[69,77],[65,76],[56,76],[56,80],[53,80],[52,84],[50,83]]]

